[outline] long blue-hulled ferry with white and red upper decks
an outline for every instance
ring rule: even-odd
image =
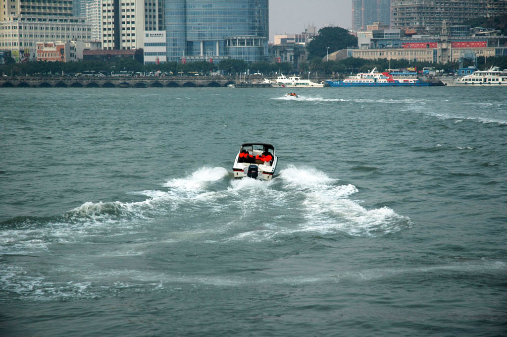
[[[374,68],[369,73],[358,73],[349,76],[343,81],[326,81],[332,87],[393,87],[414,86],[423,87],[434,85],[432,82],[423,82],[417,77],[416,72],[377,72]]]

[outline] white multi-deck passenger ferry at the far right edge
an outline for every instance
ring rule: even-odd
[[[463,77],[441,77],[440,81],[448,86],[493,86],[503,85],[507,87],[507,69],[500,71],[497,66],[489,70],[473,72]]]

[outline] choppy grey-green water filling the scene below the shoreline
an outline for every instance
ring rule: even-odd
[[[505,88],[285,92],[1,89],[0,334],[505,335]]]

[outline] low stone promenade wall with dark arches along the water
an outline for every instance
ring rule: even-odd
[[[261,79],[242,83],[245,87],[269,87]],[[48,76],[48,77],[3,77],[0,78],[2,88],[150,88],[150,87],[225,87],[228,84],[238,84],[235,77],[93,77],[93,76]]]

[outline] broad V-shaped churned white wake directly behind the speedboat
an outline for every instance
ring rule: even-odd
[[[304,233],[375,237],[412,226],[390,208],[362,207],[351,198],[355,186],[311,167],[288,166],[269,182],[234,180],[224,167],[202,167],[161,187],[127,193],[145,197],[142,201],[88,201],[61,215],[4,221],[0,253],[32,254],[55,243],[94,243],[97,238],[103,242],[154,230],[150,226],[160,223],[181,234],[168,234],[171,240],[209,242],[283,241]]]

